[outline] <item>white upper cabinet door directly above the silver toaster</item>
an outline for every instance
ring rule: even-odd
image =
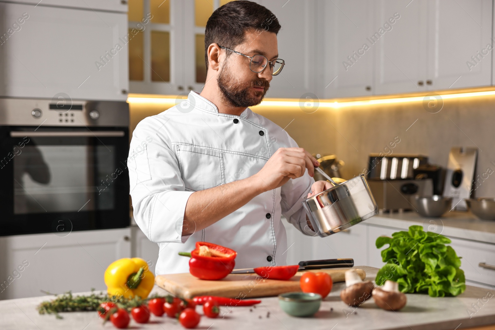
[[[426,91],[428,30],[426,0],[376,0],[375,94]],[[406,6],[407,5],[407,6]],[[397,19],[397,17],[399,17]],[[380,36],[389,19],[392,30]],[[378,38],[379,37],[379,38]]]

